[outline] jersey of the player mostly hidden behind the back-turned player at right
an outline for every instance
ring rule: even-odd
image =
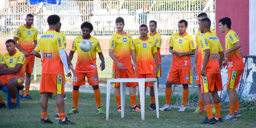
[[[215,32],[213,29],[210,28],[210,30],[211,30],[211,32],[212,32],[213,34],[215,34],[215,35],[217,36],[216,32]],[[200,40],[201,40],[201,37],[202,37],[203,35],[204,35],[204,34],[201,33],[200,31],[198,31],[197,34],[196,34],[196,46],[198,46],[198,49],[197,49],[197,58],[196,58],[196,65],[202,65],[202,64],[203,64],[203,62],[202,62],[202,52],[201,52],[201,47],[200,47],[200,45],[201,45]]]

